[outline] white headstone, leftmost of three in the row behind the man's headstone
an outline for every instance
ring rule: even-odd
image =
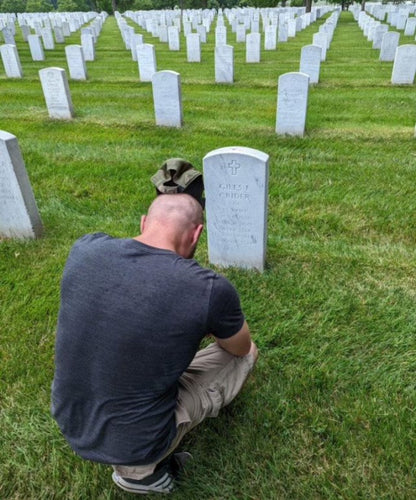
[[[70,120],[74,110],[65,70],[44,68],[39,77],[50,118]]]

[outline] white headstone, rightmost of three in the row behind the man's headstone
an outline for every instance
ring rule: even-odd
[[[276,133],[298,135],[305,133],[308,107],[309,76],[304,73],[285,73],[279,77],[277,93]]]

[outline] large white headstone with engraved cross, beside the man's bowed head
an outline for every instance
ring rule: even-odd
[[[269,156],[246,147],[208,153],[204,185],[212,264],[263,271],[267,241]]]

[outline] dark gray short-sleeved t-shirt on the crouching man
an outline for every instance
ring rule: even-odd
[[[107,464],[157,461],[200,341],[243,322],[234,287],[196,261],[104,233],[80,238],[62,278],[52,387],[71,447]]]

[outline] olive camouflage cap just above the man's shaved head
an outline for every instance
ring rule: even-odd
[[[185,193],[193,196],[204,208],[204,181],[201,172],[182,158],[169,158],[151,178],[157,195]]]

